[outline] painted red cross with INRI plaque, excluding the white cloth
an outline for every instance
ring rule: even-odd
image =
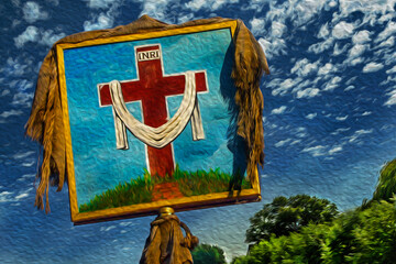
[[[143,122],[158,128],[168,120],[166,97],[184,94],[185,75],[164,75],[160,45],[136,47],[135,59],[138,78],[120,80],[124,101],[141,101]],[[208,91],[205,72],[196,72],[195,81],[197,94]],[[99,84],[98,87],[100,107],[111,106],[109,84]],[[172,143],[162,148],[147,145],[146,151],[151,175],[173,175],[175,161]]]

